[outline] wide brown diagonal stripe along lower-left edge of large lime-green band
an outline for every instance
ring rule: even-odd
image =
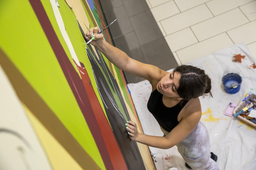
[[[0,48],[0,63],[19,99],[83,169],[100,169]]]

